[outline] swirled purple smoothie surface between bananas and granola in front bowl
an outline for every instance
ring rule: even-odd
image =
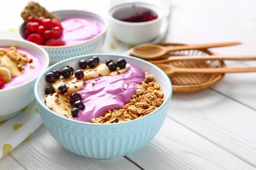
[[[132,94],[135,94],[136,84],[141,84],[144,79],[145,73],[140,68],[130,65],[126,73],[85,81],[87,85],[78,91],[84,98],[85,109],[79,111],[75,120],[91,122],[91,119],[103,115],[108,110],[123,108]]]

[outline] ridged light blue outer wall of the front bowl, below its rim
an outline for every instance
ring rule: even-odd
[[[160,130],[169,105],[157,113],[129,124],[116,124],[108,128],[77,125],[68,119],[58,119],[40,105],[38,107],[44,126],[52,137],[67,150],[94,159],[113,159],[144,147]]]

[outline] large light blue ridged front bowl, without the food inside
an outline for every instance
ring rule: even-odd
[[[99,56],[100,63],[107,59],[116,61],[124,58],[143,71],[153,74],[164,92],[164,102],[156,111],[129,122],[115,124],[93,124],[67,119],[49,110],[44,104],[44,90],[47,87],[45,76],[54,68],[61,69],[66,65],[78,69],[81,59]],[[67,150],[81,156],[94,159],[113,159],[144,147],[160,130],[169,109],[172,96],[172,84],[160,68],[142,59],[114,54],[90,54],[58,62],[42,73],[35,84],[35,97],[41,119],[52,137]]]

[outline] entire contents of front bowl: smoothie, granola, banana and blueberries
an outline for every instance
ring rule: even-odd
[[[74,64],[74,62],[73,62]],[[156,110],[163,91],[152,74],[138,66],[97,56],[78,65],[53,69],[45,76],[45,105],[53,112],[81,122],[119,123]]]

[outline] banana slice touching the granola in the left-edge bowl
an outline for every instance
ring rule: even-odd
[[[12,78],[21,75],[21,73],[20,73],[19,69],[17,68],[16,64],[14,62],[12,62],[12,60],[7,56],[3,56],[1,58],[0,67],[7,68],[10,71]]]

